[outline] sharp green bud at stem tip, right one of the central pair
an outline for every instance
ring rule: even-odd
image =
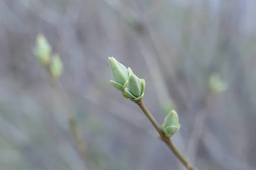
[[[126,84],[125,84],[126,85]],[[125,94],[134,102],[143,99],[145,91],[145,80],[139,79],[135,74],[129,75]]]

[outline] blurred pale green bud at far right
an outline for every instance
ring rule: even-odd
[[[221,80],[221,77],[219,74],[217,73],[213,73],[210,75],[209,77],[209,91],[211,93],[222,93],[224,91],[226,91],[228,88],[228,85],[226,82],[224,82],[223,80]]]

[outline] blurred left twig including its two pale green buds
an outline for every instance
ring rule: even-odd
[[[40,64],[49,73],[49,81],[51,82],[55,92],[67,111],[70,130],[74,139],[76,140],[77,148],[81,154],[81,157],[83,158],[84,164],[89,166],[90,160],[87,155],[87,147],[85,145],[83,135],[77,125],[71,104],[68,101],[68,98],[65,95],[60,83],[58,82],[58,78],[63,73],[63,63],[58,54],[52,54],[52,46],[49,45],[49,42],[42,34],[38,34],[33,51]]]

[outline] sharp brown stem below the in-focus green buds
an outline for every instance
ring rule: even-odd
[[[155,129],[157,130],[157,132],[160,135],[160,139],[165,142],[167,144],[167,146],[172,150],[172,152],[175,154],[175,156],[177,157],[177,159],[180,160],[180,162],[188,169],[188,170],[195,170],[191,164],[189,163],[189,161],[187,161],[184,156],[182,155],[182,153],[180,153],[180,151],[177,149],[177,147],[175,147],[175,145],[173,144],[172,140],[167,138],[165,136],[165,134],[163,133],[163,131],[161,130],[160,126],[158,125],[157,121],[154,119],[154,116],[152,116],[152,114],[148,111],[148,109],[146,108],[146,106],[143,104],[142,101],[137,102],[137,105],[139,105],[139,107],[141,108],[141,110],[145,113],[145,115],[148,117],[148,119],[150,120],[150,122],[152,123],[152,125],[155,127]]]

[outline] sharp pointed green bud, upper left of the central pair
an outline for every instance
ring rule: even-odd
[[[119,91],[124,91],[123,85],[129,78],[129,70],[114,57],[108,57],[108,61],[115,79],[115,81],[110,80],[111,84]]]

